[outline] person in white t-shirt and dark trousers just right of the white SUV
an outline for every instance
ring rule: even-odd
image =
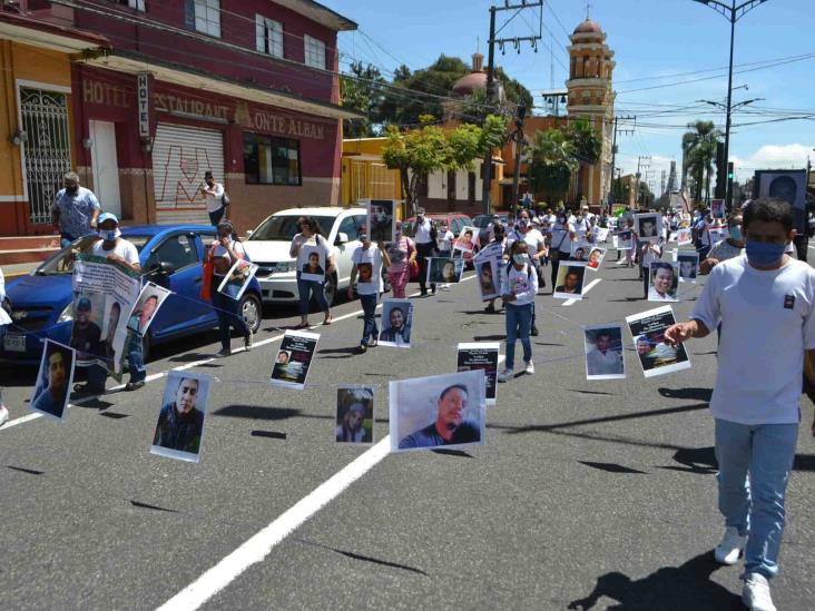
[[[382,265],[390,267],[391,260],[385,250],[385,243],[380,242],[376,247],[371,244],[371,237],[367,234],[360,234],[361,246],[351,255],[354,266],[351,268],[351,279],[348,282],[348,299],[354,298],[354,288],[360,296],[363,312],[362,339],[360,341],[359,354],[376,346],[376,338],[380,336],[380,329],[376,328],[376,300],[382,293]],[[356,278],[360,278],[356,282]]]

